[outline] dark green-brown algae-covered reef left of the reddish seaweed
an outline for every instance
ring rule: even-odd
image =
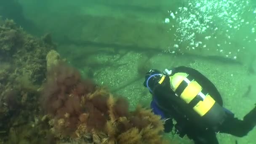
[[[35,123],[45,57],[56,47],[49,37],[33,37],[13,20],[0,19],[0,142],[28,143],[39,132]]]

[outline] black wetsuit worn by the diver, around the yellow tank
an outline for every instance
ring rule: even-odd
[[[208,90],[208,93],[213,96],[216,102],[221,106],[223,101],[221,95],[215,85],[211,83],[205,76],[195,69],[189,67],[177,67],[173,69],[172,74],[176,72],[185,72],[197,81],[203,88]],[[183,137],[185,134],[195,141],[195,144],[219,144],[216,138],[216,131],[208,128],[207,130],[200,125],[197,118],[194,119],[193,115],[197,115],[191,107],[188,107],[170,88],[169,80],[164,80],[161,85],[156,85],[153,88],[153,99],[157,101],[157,108],[161,109],[166,118],[171,117],[176,120],[177,124],[173,125],[171,120],[165,124],[165,132],[170,132],[173,126],[179,130],[179,134]],[[154,111],[154,108],[153,108]],[[227,117],[224,122],[219,126],[218,131],[220,133],[229,133],[234,136],[242,137],[247,135],[249,131],[256,125],[256,108],[251,110],[245,115],[243,120],[239,120],[234,117],[234,114],[225,109]],[[188,120],[188,117],[190,119]]]

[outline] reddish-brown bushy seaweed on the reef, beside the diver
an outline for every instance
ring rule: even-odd
[[[50,115],[56,136],[92,135],[94,143],[134,144],[162,142],[163,121],[150,109],[129,111],[124,97],[115,98],[76,69],[60,62],[52,67],[42,91],[42,106]]]

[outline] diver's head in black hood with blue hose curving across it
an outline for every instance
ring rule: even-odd
[[[144,87],[149,88],[149,91],[152,92],[155,88],[155,85],[157,85],[158,81],[160,80],[160,72],[157,69],[150,69],[149,72],[145,75],[145,81],[144,81]]]

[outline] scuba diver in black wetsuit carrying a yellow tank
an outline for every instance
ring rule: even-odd
[[[152,111],[165,122],[165,133],[174,127],[176,134],[187,135],[195,144],[219,144],[216,133],[243,137],[256,125],[256,107],[239,120],[222,107],[215,85],[195,69],[151,69],[144,86],[152,93]]]

